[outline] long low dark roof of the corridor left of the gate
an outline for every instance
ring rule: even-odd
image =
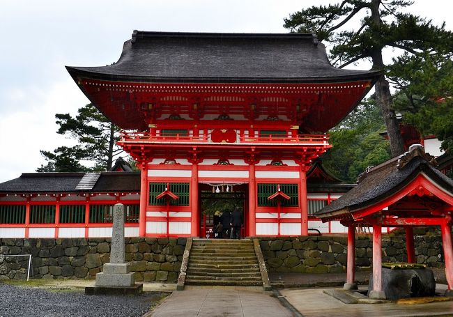
[[[139,192],[139,172],[102,172],[92,190],[76,190],[85,173],[22,173],[0,183],[0,192]]]

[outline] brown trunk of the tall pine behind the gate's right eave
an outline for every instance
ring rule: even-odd
[[[382,24],[379,6],[381,6],[381,0],[371,0],[371,21],[376,29],[379,29]],[[373,47],[372,60],[374,69],[383,69],[385,66],[382,59],[382,49],[383,47]],[[392,109],[392,94],[384,75],[379,77],[374,87],[376,89],[376,102],[381,107],[385,126],[387,127],[390,150],[392,156],[395,157],[404,153],[404,141],[403,137],[401,137],[397,115]]]

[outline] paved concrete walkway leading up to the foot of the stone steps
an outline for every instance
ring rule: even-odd
[[[185,286],[167,297],[153,317],[290,317],[291,312],[262,288]]]

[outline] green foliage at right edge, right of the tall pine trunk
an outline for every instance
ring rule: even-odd
[[[394,103],[404,113],[404,121],[424,136],[436,135],[449,152],[453,149],[452,54],[405,54],[389,72],[399,88]]]

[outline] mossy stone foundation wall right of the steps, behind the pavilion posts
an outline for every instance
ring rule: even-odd
[[[346,272],[347,238],[339,235],[259,238],[269,272],[338,273]],[[417,263],[429,267],[445,265],[439,236],[415,236]],[[355,240],[355,265],[369,267],[372,262],[369,235]],[[406,238],[401,235],[382,240],[383,262],[406,262]]]

